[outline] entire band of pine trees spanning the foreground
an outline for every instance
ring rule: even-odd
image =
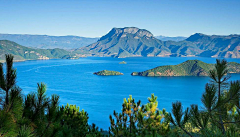
[[[211,81],[206,84],[201,107],[183,109],[177,101],[168,113],[158,109],[154,94],[144,105],[130,96],[124,99],[120,113],[110,115],[108,131],[89,125],[87,112],[76,105],[59,106],[59,96],[47,97],[43,83],[24,96],[16,85],[16,74],[13,56],[6,55],[6,71],[0,64],[0,136],[240,136],[240,82],[229,81],[226,60],[217,60],[209,72]]]

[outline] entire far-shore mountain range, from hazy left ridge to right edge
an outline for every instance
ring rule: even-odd
[[[196,33],[181,41],[177,39],[165,41],[167,37],[164,36],[157,38],[150,31],[136,27],[113,28],[100,39],[78,36],[0,34],[0,40],[12,40],[30,48],[74,49],[73,53],[79,56],[240,58],[240,35],[237,34],[220,36]]]

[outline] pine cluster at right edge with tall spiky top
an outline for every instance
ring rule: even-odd
[[[190,113],[186,109],[184,114],[181,103],[173,103],[174,118],[170,114],[170,121],[189,136],[239,136],[240,82],[228,81],[230,76],[225,60],[217,60],[209,76],[211,83],[206,84],[201,99],[204,107],[199,109],[197,105],[191,105]],[[195,130],[184,128],[187,123]]]

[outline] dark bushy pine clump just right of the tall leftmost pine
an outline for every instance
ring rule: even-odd
[[[24,101],[22,134],[36,136],[87,136],[101,135],[98,127],[88,125],[88,114],[76,105],[59,106],[59,96],[46,96],[46,86],[38,84],[37,92],[27,95]],[[30,132],[30,129],[32,129]],[[26,133],[27,132],[27,133]],[[20,131],[19,131],[20,133]]]

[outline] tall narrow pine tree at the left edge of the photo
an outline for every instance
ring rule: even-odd
[[[16,70],[13,68],[13,56],[6,54],[6,74],[0,64],[0,136],[16,136],[17,121],[22,114],[21,89],[16,84]]]

